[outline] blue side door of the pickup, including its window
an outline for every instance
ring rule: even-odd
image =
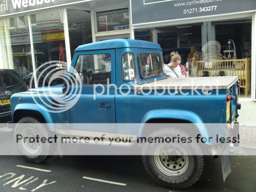
[[[116,123],[115,118],[115,50],[78,52],[75,71],[80,83],[69,82],[69,89],[77,90],[75,104],[65,111],[68,129],[116,133],[115,126],[94,126],[95,123]],[[109,83],[108,83],[109,79]],[[80,91],[81,89],[81,91]],[[67,91],[68,92],[68,91]],[[95,94],[96,93],[96,94]],[[71,98],[71,91],[64,97]],[[75,98],[75,97],[74,97]],[[67,99],[68,100],[68,99]],[[73,126],[90,123],[92,126]]]

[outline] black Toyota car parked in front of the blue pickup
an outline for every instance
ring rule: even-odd
[[[28,86],[13,69],[0,69],[0,123],[12,121],[10,98],[12,94],[25,92]]]

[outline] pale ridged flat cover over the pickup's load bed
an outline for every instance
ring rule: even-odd
[[[134,84],[133,90],[149,89],[228,89],[238,80],[238,76],[179,77],[166,78],[144,84]]]

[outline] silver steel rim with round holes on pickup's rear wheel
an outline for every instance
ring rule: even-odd
[[[188,170],[189,158],[187,151],[176,143],[162,143],[154,153],[157,168],[167,176],[179,177]]]

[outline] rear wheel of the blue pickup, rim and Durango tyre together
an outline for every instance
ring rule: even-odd
[[[150,138],[189,136],[173,128],[164,128],[153,132]],[[204,169],[203,156],[195,142],[183,143],[145,143],[142,149],[142,161],[149,176],[159,185],[172,189],[184,189],[192,186]],[[148,155],[150,154],[150,155]],[[154,155],[152,155],[154,154]]]

